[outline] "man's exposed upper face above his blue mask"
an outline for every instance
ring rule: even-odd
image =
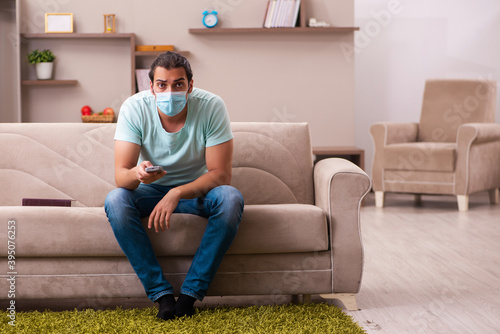
[[[151,92],[153,94],[185,91],[188,91],[189,94],[192,90],[193,80],[191,82],[187,81],[186,71],[183,67],[167,70],[158,66],[155,69],[154,82],[151,83]]]

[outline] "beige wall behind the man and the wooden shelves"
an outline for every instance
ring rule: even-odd
[[[135,33],[137,44],[173,44],[190,51],[195,86],[221,95],[232,121],[309,122],[315,146],[354,144],[354,63],[346,62],[339,47],[352,45],[352,33],[188,33],[203,27],[202,12],[210,7],[221,13],[222,27],[261,27],[267,0],[22,0],[22,5],[23,32],[43,32],[46,11],[72,12],[75,32],[102,32],[102,14],[115,13],[117,32]],[[307,11],[333,25],[354,24],[354,0],[308,0]],[[57,51],[57,76],[77,79],[78,85],[24,88],[23,109],[30,121],[77,122],[81,106],[102,110],[129,90],[128,55],[120,45],[109,45],[104,53],[102,43],[94,41],[37,40],[24,45],[23,52],[44,46]],[[55,107],[54,96],[59,99]]]

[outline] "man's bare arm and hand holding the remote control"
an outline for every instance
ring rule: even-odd
[[[143,161],[137,165],[140,152],[140,145],[115,140],[115,182],[117,187],[134,190],[141,182],[149,184],[167,174],[166,171],[147,173],[145,168],[152,166],[149,161]]]

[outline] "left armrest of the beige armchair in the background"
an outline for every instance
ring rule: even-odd
[[[370,127],[373,140],[372,181],[373,190],[383,191],[384,147],[396,143],[417,141],[418,123],[375,123]]]

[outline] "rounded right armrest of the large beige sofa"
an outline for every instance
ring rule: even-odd
[[[329,222],[331,292],[359,291],[363,273],[359,210],[370,187],[368,175],[350,161],[329,158],[315,165],[315,204],[327,214]]]

